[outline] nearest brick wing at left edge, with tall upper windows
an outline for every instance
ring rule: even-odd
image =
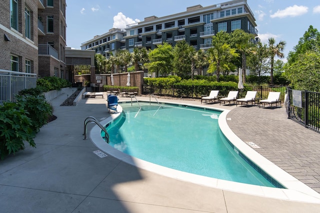
[[[38,73],[38,1],[0,1],[0,69]]]

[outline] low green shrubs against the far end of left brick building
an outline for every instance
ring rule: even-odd
[[[71,83],[65,79],[47,76],[36,80],[36,87],[43,92],[50,90],[60,90],[61,88],[71,87]]]

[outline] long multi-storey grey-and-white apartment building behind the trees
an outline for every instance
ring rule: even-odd
[[[149,16],[129,24],[125,29],[112,28],[103,35],[83,42],[81,49],[95,50],[108,57],[122,49],[135,47],[154,49],[163,42],[172,46],[185,40],[195,49],[207,49],[211,38],[220,30],[232,32],[242,29],[257,36],[254,15],[246,0],[232,0],[210,6],[195,5],[186,11],[163,17]]]

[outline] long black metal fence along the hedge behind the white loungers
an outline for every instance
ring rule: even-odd
[[[238,90],[237,86],[195,86],[195,85],[143,85],[142,94],[155,94],[159,96],[201,98],[201,95],[209,95],[211,90],[219,90],[219,95],[227,96],[229,91]],[[244,97],[246,91],[257,91],[256,97],[266,99],[269,92],[280,92],[280,100],[283,103],[286,92],[285,86],[245,86],[239,90],[238,97]]]

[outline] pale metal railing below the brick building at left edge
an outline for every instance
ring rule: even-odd
[[[15,102],[15,95],[23,89],[36,87],[36,74],[0,70],[0,105]]]

